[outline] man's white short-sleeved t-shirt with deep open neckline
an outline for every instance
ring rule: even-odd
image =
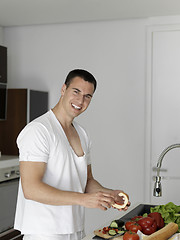
[[[20,161],[47,163],[43,182],[65,191],[84,193],[87,165],[90,164],[90,141],[76,122],[84,155],[78,157],[59,121],[50,110],[30,122],[19,134]],[[53,206],[24,198],[21,181],[15,216],[15,229],[22,234],[70,234],[84,229],[84,207]]]

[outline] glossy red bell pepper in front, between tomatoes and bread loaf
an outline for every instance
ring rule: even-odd
[[[143,217],[139,219],[138,224],[142,227],[142,232],[146,235],[150,235],[157,230],[157,223],[151,217]]]

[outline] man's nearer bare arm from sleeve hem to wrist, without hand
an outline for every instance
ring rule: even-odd
[[[50,205],[79,204],[81,193],[62,191],[42,181],[46,170],[44,162],[20,162],[22,189],[26,199]]]

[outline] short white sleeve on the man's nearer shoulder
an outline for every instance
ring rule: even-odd
[[[17,138],[20,161],[46,162],[49,157],[48,131],[39,122],[29,123]]]

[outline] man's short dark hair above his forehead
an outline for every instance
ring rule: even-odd
[[[95,77],[90,72],[83,70],[83,69],[74,69],[68,73],[66,80],[65,80],[65,84],[66,84],[67,88],[69,87],[71,81],[75,77],[80,77],[84,81],[92,83],[94,85],[94,92],[95,92],[96,86],[97,86],[97,81],[96,81]]]

